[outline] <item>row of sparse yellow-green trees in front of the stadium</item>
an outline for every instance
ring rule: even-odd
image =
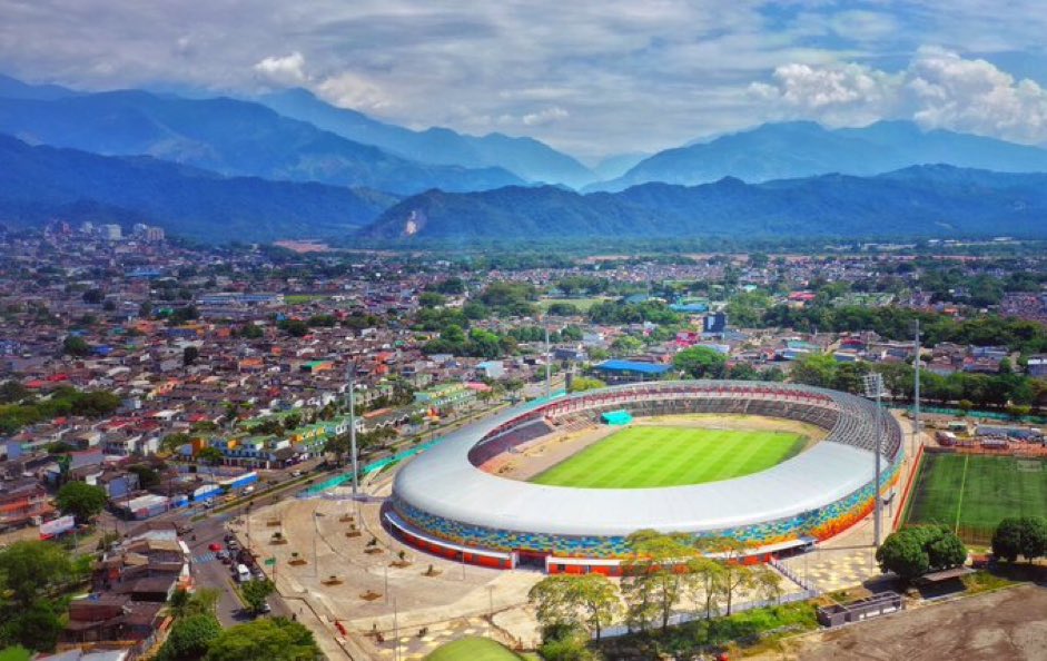
[[[571,644],[577,637],[570,632],[577,629],[599,639],[618,620],[640,632],[664,630],[685,601],[711,619],[720,613],[721,602],[730,615],[742,593],[781,599],[781,576],[763,565],[741,563],[745,545],[735,540],[695,542],[685,534],[643,530],[629,536],[629,545],[621,588],[602,574],[584,574],[549,576],[531,589],[529,600],[546,644]]]

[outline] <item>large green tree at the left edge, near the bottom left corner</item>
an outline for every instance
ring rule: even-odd
[[[27,540],[0,551],[0,586],[22,608],[63,584],[71,572],[69,555],[58,544]]]

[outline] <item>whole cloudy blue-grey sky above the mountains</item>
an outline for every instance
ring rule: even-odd
[[[0,0],[0,72],[86,90],[303,87],[592,162],[790,119],[1047,145],[1045,34],[1043,0]]]

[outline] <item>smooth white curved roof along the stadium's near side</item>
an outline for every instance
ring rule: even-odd
[[[760,473],[661,489],[546,486],[498,477],[470,463],[473,445],[534,407],[523,405],[450,435],[401,468],[394,493],[424,512],[473,525],[604,536],[644,527],[714,531],[784,519],[838,501],[873,479],[872,452],[833,442],[820,442]]]

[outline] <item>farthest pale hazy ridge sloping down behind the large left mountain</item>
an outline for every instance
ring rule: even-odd
[[[374,145],[418,162],[467,168],[498,167],[529,181],[579,187],[596,176],[574,158],[532,138],[503,134],[467,136],[446,128],[414,131],[385,124],[363,112],[336,108],[304,89],[290,89],[258,99],[280,115],[308,121],[349,140]]]

